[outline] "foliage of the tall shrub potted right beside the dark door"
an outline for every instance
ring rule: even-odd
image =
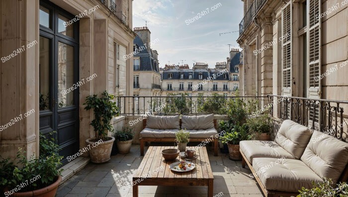
[[[110,121],[113,116],[118,116],[118,107],[113,101],[114,96],[109,95],[106,91],[99,98],[97,95],[87,96],[85,107],[86,110],[93,109],[94,119],[90,123],[96,133],[96,140],[102,139],[107,141],[107,131],[112,131]]]

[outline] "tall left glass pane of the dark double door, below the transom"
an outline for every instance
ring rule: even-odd
[[[50,106],[50,48],[51,40],[40,36],[40,62],[39,62],[39,73],[40,73],[40,92],[39,92],[39,103],[40,110],[51,109]]]

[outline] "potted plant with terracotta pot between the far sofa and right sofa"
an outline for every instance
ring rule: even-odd
[[[222,143],[228,145],[229,158],[232,160],[242,160],[242,155],[239,152],[239,142],[242,140],[250,140],[252,135],[250,134],[246,124],[242,126],[235,125],[230,133],[226,133],[221,136]]]

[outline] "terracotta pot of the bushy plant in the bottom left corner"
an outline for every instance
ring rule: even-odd
[[[20,193],[14,193],[14,197],[54,197],[56,196],[56,192],[58,189],[59,184],[62,182],[62,177],[58,176],[57,181],[54,182],[52,185],[49,185],[45,188],[34,190],[30,192],[20,192]]]

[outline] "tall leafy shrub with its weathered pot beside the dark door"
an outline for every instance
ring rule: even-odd
[[[87,144],[92,147],[89,151],[90,160],[93,163],[105,163],[110,160],[114,137],[107,136],[108,131],[112,131],[111,119],[118,116],[118,107],[113,101],[114,96],[104,91],[99,98],[97,95],[87,96],[86,110],[93,109],[94,119],[90,123],[95,131],[95,137],[88,138]],[[100,142],[101,141],[101,142]],[[98,142],[97,146],[94,143]]]

